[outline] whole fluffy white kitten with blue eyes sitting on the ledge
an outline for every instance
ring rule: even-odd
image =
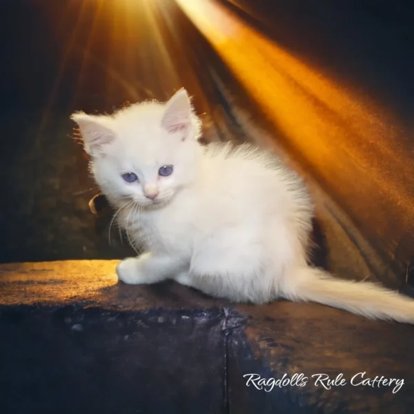
[[[286,297],[414,322],[413,300],[308,266],[313,204],[302,180],[247,144],[202,147],[185,90],[72,119],[119,224],[147,252],[117,266],[122,281],[172,278],[235,302]]]

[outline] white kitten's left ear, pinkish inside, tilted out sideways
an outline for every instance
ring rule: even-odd
[[[83,148],[92,157],[102,155],[105,147],[115,140],[115,133],[106,126],[103,117],[78,112],[72,114],[70,119],[78,124],[83,137]]]

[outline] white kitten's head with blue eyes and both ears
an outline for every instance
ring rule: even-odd
[[[75,113],[71,118],[110,201],[166,203],[195,180],[200,125],[186,90],[167,103],[143,102],[111,116]]]

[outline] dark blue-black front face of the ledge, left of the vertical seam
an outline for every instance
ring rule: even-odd
[[[3,308],[0,411],[224,414],[222,324],[219,310]]]

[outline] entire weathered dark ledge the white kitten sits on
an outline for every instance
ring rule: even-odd
[[[116,264],[0,265],[1,413],[411,413],[413,326],[317,304],[234,305],[175,282],[128,286]],[[362,372],[404,385],[352,386]],[[259,391],[248,373],[308,382]],[[318,373],[347,384],[326,390]]]

